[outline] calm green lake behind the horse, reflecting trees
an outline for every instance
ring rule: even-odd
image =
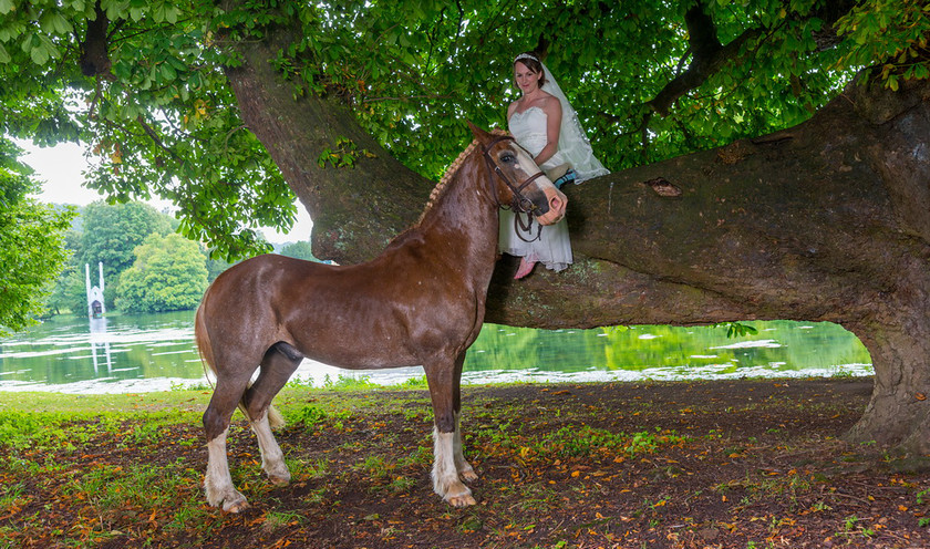
[[[745,322],[725,328],[637,325],[533,330],[485,324],[468,350],[465,383],[633,381],[760,376],[871,375],[871,359],[850,332],[831,323]],[[304,360],[294,377],[323,385],[340,376],[395,384],[423,369],[341,370]],[[134,393],[206,382],[194,345],[194,311],[55,317],[0,339],[0,391]]]

